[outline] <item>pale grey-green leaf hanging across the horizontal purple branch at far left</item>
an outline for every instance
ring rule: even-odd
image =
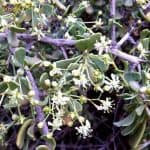
[[[16,33],[9,31],[7,36],[8,44],[11,47],[17,47],[19,44],[19,40],[17,39]]]

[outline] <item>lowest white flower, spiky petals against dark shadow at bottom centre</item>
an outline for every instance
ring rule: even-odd
[[[91,129],[91,124],[88,120],[86,120],[85,125],[75,127],[75,129],[84,139],[86,137],[91,137],[91,133],[93,131],[93,129]]]

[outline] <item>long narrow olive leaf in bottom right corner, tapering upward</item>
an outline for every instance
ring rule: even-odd
[[[129,144],[133,149],[136,149],[140,144],[146,129],[146,123],[147,121],[145,120],[141,124],[141,126],[136,130],[135,134],[129,138]]]

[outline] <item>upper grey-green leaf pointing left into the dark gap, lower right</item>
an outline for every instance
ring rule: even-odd
[[[131,125],[136,117],[136,113],[132,112],[131,114],[129,114],[127,117],[125,117],[123,120],[120,120],[118,122],[114,122],[114,125],[117,127],[126,127]]]

